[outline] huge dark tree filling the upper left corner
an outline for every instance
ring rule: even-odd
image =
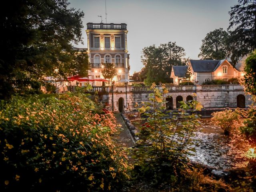
[[[84,13],[68,5],[67,0],[3,2],[0,99],[25,92],[46,76],[62,76],[56,69],[80,60],[71,42],[82,42]]]

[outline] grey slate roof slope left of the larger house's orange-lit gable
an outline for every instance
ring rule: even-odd
[[[190,60],[194,72],[213,72],[222,60]],[[220,64],[219,64],[220,63]]]

